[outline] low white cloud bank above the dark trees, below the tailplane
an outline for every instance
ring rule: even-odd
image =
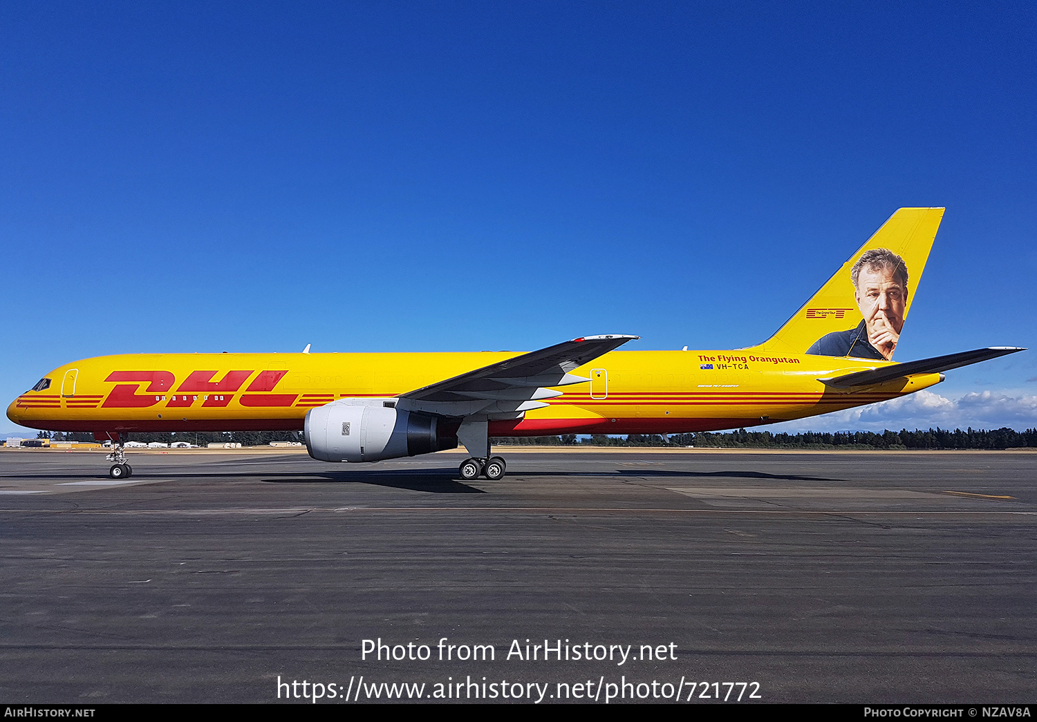
[[[952,400],[930,391],[823,416],[769,427],[774,431],[881,431],[882,429],[1000,429],[1037,427],[1037,396],[985,391]]]

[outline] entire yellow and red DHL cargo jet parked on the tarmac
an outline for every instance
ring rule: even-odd
[[[493,436],[686,433],[773,424],[938,383],[1021,348],[895,363],[943,208],[901,208],[770,339],[733,351],[616,351],[586,336],[531,353],[148,353],[58,367],[11,402],[16,424],[93,432],[303,430],[321,461],[454,449],[497,480]],[[309,347],[307,347],[308,350]]]

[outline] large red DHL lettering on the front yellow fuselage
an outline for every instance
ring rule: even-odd
[[[175,386],[176,377],[169,371],[113,371],[105,381],[115,382],[102,408],[147,408],[163,401],[166,406],[187,408],[201,401],[203,408],[221,408],[233,400],[234,395],[255,373],[255,370],[228,371],[219,381],[214,381],[218,371],[192,371]],[[260,371],[241,395],[237,402],[242,406],[271,407],[291,406],[298,394],[271,394],[284,371]],[[143,393],[140,387],[147,384]],[[171,392],[171,393],[170,393]],[[171,398],[167,399],[167,395]],[[200,398],[199,398],[200,397]]]

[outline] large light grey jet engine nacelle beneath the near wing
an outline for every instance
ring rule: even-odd
[[[457,447],[439,416],[341,399],[306,412],[306,450],[320,461],[381,461]]]

